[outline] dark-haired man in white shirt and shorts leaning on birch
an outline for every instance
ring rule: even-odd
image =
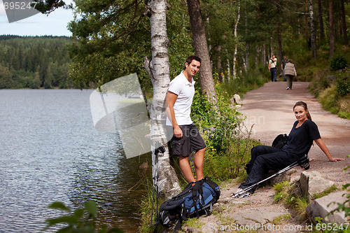
[[[195,182],[188,157],[195,151],[195,173],[197,181],[202,180],[204,152],[207,146],[197,127],[190,118],[191,105],[195,95],[193,76],[200,70],[200,57],[186,59],[185,69],[170,82],[166,97],[167,125],[172,126],[172,155],[179,156],[179,165],[188,183]]]

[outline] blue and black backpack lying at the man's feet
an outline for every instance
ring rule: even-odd
[[[164,227],[176,225],[175,232],[177,232],[181,230],[183,220],[199,218],[203,214],[209,216],[219,197],[220,188],[209,177],[189,183],[179,195],[160,205],[156,225],[160,224]]]

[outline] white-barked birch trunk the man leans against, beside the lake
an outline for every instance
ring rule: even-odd
[[[153,102],[151,105],[151,141],[152,141],[152,167],[153,176],[155,169],[158,168],[159,178],[158,191],[165,192],[165,197],[169,199],[181,192],[179,179],[176,171],[171,165],[169,148],[167,146],[166,128],[165,128],[165,97],[170,83],[169,74],[169,39],[167,37],[167,0],[149,0],[145,1],[146,11],[151,22],[151,45],[152,59],[145,57],[144,68],[153,84]],[[165,153],[159,154],[158,164],[155,157],[156,143],[165,146]]]

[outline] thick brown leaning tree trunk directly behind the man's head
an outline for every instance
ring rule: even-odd
[[[202,93],[207,96],[209,102],[216,105],[216,90],[214,85],[213,71],[209,57],[207,37],[205,36],[202,13],[199,0],[187,0],[188,15],[190,15],[191,31],[195,44],[195,53],[201,59],[200,86]]]

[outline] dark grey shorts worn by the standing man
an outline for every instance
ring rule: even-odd
[[[183,136],[181,138],[172,137],[172,155],[188,157],[193,151],[197,152],[207,147],[194,124],[179,125],[179,127]]]

